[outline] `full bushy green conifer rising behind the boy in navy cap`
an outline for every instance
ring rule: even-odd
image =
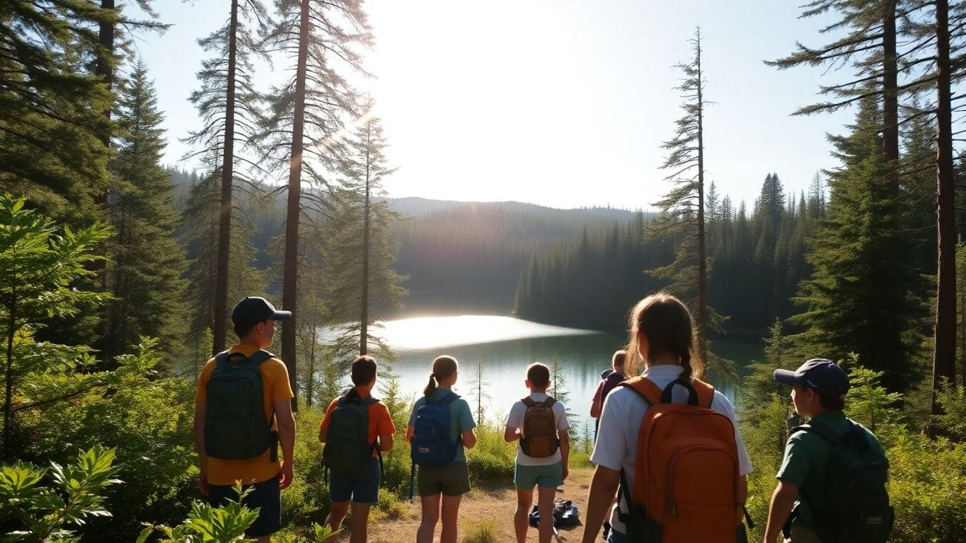
[[[855,353],[864,367],[885,371],[890,390],[903,391],[917,376],[910,360],[921,343],[922,304],[909,292],[918,278],[895,228],[897,187],[882,182],[889,166],[874,128],[879,115],[864,100],[852,133],[831,138],[842,167],[829,172],[828,218],[809,240],[814,271],[794,300],[804,311],[792,321],[807,330],[792,339],[811,356]]]

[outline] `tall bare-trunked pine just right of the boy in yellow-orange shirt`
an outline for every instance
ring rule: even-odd
[[[294,318],[283,323],[281,342],[282,358],[294,380],[298,374],[298,231],[305,206],[301,184],[338,169],[344,147],[336,134],[347,117],[357,117],[355,90],[344,79],[345,72],[364,72],[356,48],[369,46],[372,35],[361,2],[277,0],[276,9],[279,20],[266,41],[292,59],[293,77],[267,96],[270,114],[260,121],[265,130],[261,147],[270,161],[288,166],[282,305]],[[298,389],[293,386],[293,390]]]

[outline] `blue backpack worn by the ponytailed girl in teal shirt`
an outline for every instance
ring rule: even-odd
[[[449,437],[449,404],[458,397],[460,397],[459,394],[452,392],[440,399],[427,397],[426,403],[416,410],[416,421],[410,442],[412,457],[410,500],[412,500],[416,466],[443,468],[452,463],[453,458],[456,457],[459,437],[455,442]]]

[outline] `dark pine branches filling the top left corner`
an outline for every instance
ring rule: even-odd
[[[0,184],[71,225],[102,220],[110,94],[85,65],[98,47],[90,28],[106,14],[76,0],[0,12]]]

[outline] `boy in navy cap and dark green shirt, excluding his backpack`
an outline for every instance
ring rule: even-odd
[[[861,424],[845,418],[845,394],[849,390],[848,375],[838,364],[824,358],[813,358],[794,371],[776,369],[775,380],[791,387],[795,413],[809,418],[810,426],[822,425],[839,436],[853,427],[861,428],[869,446],[882,452],[879,440]],[[772,495],[764,541],[775,543],[779,531],[786,543],[821,543],[816,530],[814,507],[823,508],[826,493],[826,468],[831,445],[819,432],[791,430],[784,458],[776,477],[778,486]],[[790,522],[789,521],[790,518]]]

